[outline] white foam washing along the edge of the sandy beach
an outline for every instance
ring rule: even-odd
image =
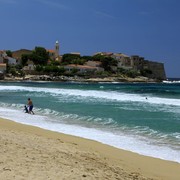
[[[48,111],[47,111],[48,113]],[[0,116],[19,123],[33,125],[44,129],[71,134],[98,142],[109,144],[111,146],[133,151],[142,155],[156,157],[160,159],[175,161],[180,163],[180,152],[168,146],[153,144],[151,140],[139,138],[138,135],[114,134],[94,128],[81,127],[77,125],[68,125],[58,123],[50,119],[47,115],[29,115],[13,108],[0,107]]]

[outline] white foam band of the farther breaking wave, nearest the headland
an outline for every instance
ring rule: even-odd
[[[79,99],[96,100],[112,100],[112,101],[123,101],[123,102],[143,102],[147,104],[156,104],[156,105],[172,105],[180,106],[180,99],[169,99],[169,98],[160,98],[155,96],[150,96],[146,99],[144,95],[139,94],[129,94],[124,92],[106,92],[103,90],[74,90],[74,89],[57,89],[57,88],[37,88],[37,87],[23,87],[23,86],[0,86],[0,91],[27,91],[27,92],[37,92],[50,94],[58,98],[60,95],[65,95],[66,97],[74,96]],[[39,96],[39,94],[38,94]]]

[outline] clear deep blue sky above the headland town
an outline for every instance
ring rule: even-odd
[[[0,50],[139,55],[180,78],[180,0],[0,0]]]

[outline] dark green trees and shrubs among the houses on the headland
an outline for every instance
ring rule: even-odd
[[[6,51],[8,56],[12,56],[10,50]],[[149,76],[152,74],[151,70],[144,69],[139,71],[133,69],[117,68],[117,60],[110,56],[96,54],[94,56],[80,56],[78,54],[64,54],[61,61],[50,59],[49,53],[43,47],[35,47],[31,54],[23,54],[21,56],[21,65],[8,66],[7,72],[14,76],[24,76],[22,68],[27,66],[32,61],[35,65],[34,72],[37,74],[51,74],[51,75],[67,75],[67,76],[97,76],[97,77],[108,77],[108,76],[125,76],[135,78],[137,76]],[[80,72],[77,68],[73,68],[70,72],[66,71],[65,65],[85,65],[87,61],[99,61],[101,62],[100,67],[104,71],[83,71]]]

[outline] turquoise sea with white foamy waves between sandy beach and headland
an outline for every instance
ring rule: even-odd
[[[180,163],[180,83],[1,82],[0,117]]]

